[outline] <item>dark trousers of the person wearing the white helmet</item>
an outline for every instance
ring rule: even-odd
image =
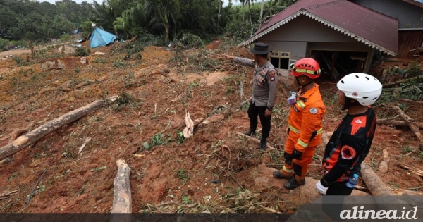
[[[351,195],[354,189],[347,187],[346,182],[336,182],[331,184],[323,198],[323,211],[332,221],[345,221],[339,214],[343,211],[343,201],[346,196]],[[330,202],[330,204],[325,204]],[[334,203],[336,202],[336,203]]]

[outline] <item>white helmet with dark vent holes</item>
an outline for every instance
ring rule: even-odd
[[[357,100],[362,106],[374,104],[382,92],[381,82],[366,73],[345,75],[336,86],[345,93],[345,97]]]

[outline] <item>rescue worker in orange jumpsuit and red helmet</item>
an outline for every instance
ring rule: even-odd
[[[302,58],[290,65],[299,87],[290,102],[288,137],[285,142],[285,163],[281,171],[274,171],[274,178],[288,179],[284,187],[293,190],[305,185],[305,175],[312,162],[314,150],[321,143],[321,121],[326,107],[321,99],[319,85],[314,80],[320,76],[320,66],[313,58]],[[289,100],[289,99],[288,99]]]

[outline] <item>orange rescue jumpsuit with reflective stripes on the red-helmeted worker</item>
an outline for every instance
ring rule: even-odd
[[[288,116],[288,138],[285,142],[285,163],[281,173],[288,177],[295,174],[300,182],[305,179],[314,150],[321,144],[322,123],[326,107],[321,99],[319,85],[302,94],[298,92],[297,102],[293,104]],[[302,152],[301,159],[293,159],[294,149]]]

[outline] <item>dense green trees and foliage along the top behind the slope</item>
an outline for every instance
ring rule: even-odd
[[[223,34],[245,39],[266,16],[293,2],[233,0],[223,7],[222,0],[0,0],[0,50],[27,46],[28,41],[66,41],[77,32],[88,37],[92,23],[121,39],[159,37],[159,44],[192,35],[203,41]]]

